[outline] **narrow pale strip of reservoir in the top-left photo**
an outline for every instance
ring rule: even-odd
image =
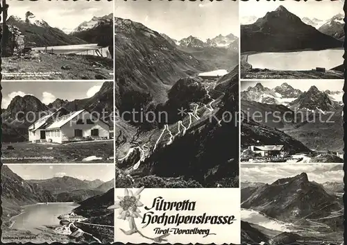
[[[35,47],[32,48],[36,51],[43,51],[46,53],[76,53],[79,55],[103,56],[110,58],[110,51],[108,47],[101,47],[98,44],[76,44],[76,45],[62,45],[62,46],[49,46],[49,47]]]

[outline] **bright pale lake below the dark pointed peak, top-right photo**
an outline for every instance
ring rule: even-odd
[[[344,62],[343,49],[321,51],[298,51],[288,53],[256,53],[248,56],[253,68],[273,70],[310,70],[316,67],[332,69]]]

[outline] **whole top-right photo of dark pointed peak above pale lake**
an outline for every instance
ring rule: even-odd
[[[344,78],[344,0],[240,1],[241,78]]]

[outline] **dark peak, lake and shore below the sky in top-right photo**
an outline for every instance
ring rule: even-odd
[[[327,31],[333,24],[343,32],[338,19],[340,15],[314,27],[310,19],[301,20],[279,6],[251,24],[242,24],[241,78],[343,78],[343,38]],[[290,28],[283,31],[282,26]]]

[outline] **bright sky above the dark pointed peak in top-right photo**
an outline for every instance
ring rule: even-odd
[[[276,10],[278,6],[282,5],[290,12],[294,13],[300,18],[317,18],[321,20],[330,19],[334,15],[344,12],[344,2],[341,0],[323,0],[323,1],[240,1],[240,17],[263,17],[266,12]]]

